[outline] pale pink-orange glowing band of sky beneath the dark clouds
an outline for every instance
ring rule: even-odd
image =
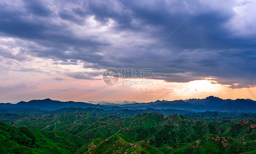
[[[10,92],[17,96],[16,101],[20,98],[44,99],[46,95],[52,99],[75,101],[106,99],[150,102],[157,99],[205,98],[209,95],[224,99],[245,97],[256,99],[254,95],[256,88],[231,89],[229,88],[231,85],[219,84],[213,77],[190,82],[130,79],[133,83],[123,84],[125,79],[121,79],[120,76],[117,84],[109,86],[102,81],[103,70],[90,68],[89,66],[93,65],[91,63],[82,60],[63,61],[33,57],[26,55],[28,49],[18,47],[17,42],[37,46],[29,41],[0,38],[2,49],[0,72],[4,74],[0,79],[5,81],[0,83],[2,100],[10,99],[10,97],[7,98]],[[69,50],[64,52],[70,54]],[[87,68],[84,67],[85,65]]]

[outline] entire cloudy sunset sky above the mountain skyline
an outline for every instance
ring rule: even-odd
[[[0,102],[256,100],[255,0],[0,0],[0,8]],[[107,69],[118,71],[116,84],[103,81]],[[122,69],[154,69],[154,79],[123,79]]]

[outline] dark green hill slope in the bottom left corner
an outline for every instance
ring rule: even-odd
[[[44,132],[33,126],[14,127],[0,122],[1,153],[73,153],[84,139],[63,131]]]

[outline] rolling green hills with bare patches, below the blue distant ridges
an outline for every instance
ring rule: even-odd
[[[1,123],[2,141],[6,138],[6,143],[14,143],[16,150],[20,146],[26,147],[29,153],[48,153],[52,150],[59,153],[92,154],[102,151],[113,153],[113,150],[121,153],[159,153],[160,150],[166,154],[185,154],[189,151],[244,153],[256,150],[256,122],[251,119],[195,120],[182,114],[166,116],[157,113],[119,118],[84,112],[0,114],[0,118],[9,123]],[[11,134],[12,131],[16,133]],[[220,141],[214,142],[212,138]],[[225,144],[228,146],[224,146],[222,141],[228,143]],[[13,149],[8,148],[12,144],[1,143],[5,151]],[[245,148],[243,145],[250,146]],[[46,147],[50,147],[50,150]]]

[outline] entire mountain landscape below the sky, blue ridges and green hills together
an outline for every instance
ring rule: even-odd
[[[256,101],[0,103],[0,153],[256,153]]]

